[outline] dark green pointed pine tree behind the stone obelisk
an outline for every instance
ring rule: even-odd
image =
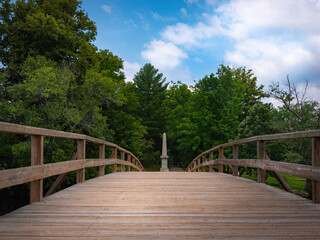
[[[165,131],[165,116],[161,104],[165,98],[168,83],[166,78],[152,64],[145,64],[133,78],[140,103],[140,117],[147,126],[148,140],[155,151],[161,150],[161,134]]]

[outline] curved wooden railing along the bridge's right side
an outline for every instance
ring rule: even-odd
[[[266,141],[297,138],[312,138],[312,166],[270,160],[266,153]],[[239,145],[252,142],[257,143],[257,159],[239,159]],[[223,150],[226,147],[232,147],[233,159],[226,159],[224,156]],[[215,151],[218,151],[218,159],[213,159]],[[219,166],[219,172],[224,171],[224,165],[229,166],[234,176],[239,175],[239,166],[257,168],[257,181],[260,183],[265,183],[266,170],[270,170],[287,191],[291,189],[280,173],[310,179],[312,180],[312,200],[314,203],[320,203],[320,130],[263,135],[221,144],[197,156],[186,171],[206,171],[206,168],[209,168],[209,171],[212,172],[214,171],[213,165],[216,164]]]

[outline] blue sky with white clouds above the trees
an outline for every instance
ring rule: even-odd
[[[95,45],[124,60],[130,81],[151,62],[188,85],[220,64],[246,66],[258,83],[286,76],[320,100],[320,0],[84,0]]]

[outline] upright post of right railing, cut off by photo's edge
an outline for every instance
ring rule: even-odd
[[[320,137],[312,138],[312,166],[320,167]],[[320,204],[320,181],[312,181],[312,201]]]

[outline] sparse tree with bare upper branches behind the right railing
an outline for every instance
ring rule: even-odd
[[[270,85],[270,95],[283,105],[276,115],[275,128],[279,132],[295,132],[320,127],[320,105],[310,101],[308,96],[308,81],[302,91],[287,77],[281,86],[279,83]],[[285,142],[284,160],[287,162],[311,164],[311,142],[309,139],[295,139]],[[311,192],[311,181],[306,181],[305,190]]]

